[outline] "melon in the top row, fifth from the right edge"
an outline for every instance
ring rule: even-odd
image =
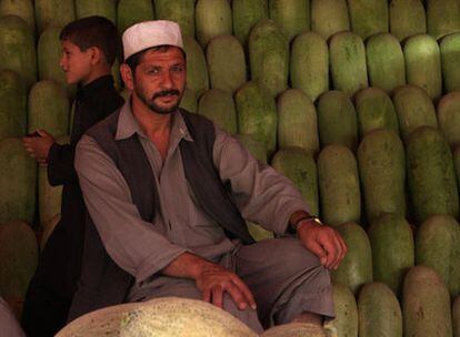
[[[269,17],[291,41],[310,30],[310,0],[269,0]]]

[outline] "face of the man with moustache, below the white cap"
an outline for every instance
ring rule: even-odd
[[[187,69],[177,47],[147,51],[136,68],[134,94],[156,113],[173,112],[182,99]]]

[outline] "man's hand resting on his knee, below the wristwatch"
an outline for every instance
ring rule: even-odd
[[[300,222],[297,226],[300,241],[319,258],[328,269],[337,269],[347,254],[347,245],[332,227],[312,221]]]

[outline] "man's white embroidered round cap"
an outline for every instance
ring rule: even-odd
[[[148,48],[174,45],[183,49],[180,27],[168,20],[153,20],[136,23],[122,37],[124,60]]]

